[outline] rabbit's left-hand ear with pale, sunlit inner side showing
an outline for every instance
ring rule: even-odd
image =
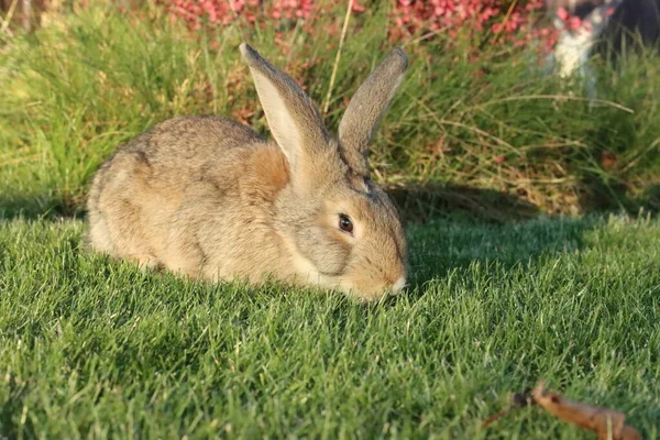
[[[329,135],[319,111],[289,76],[275,68],[243,43],[243,59],[250,67],[273,138],[286,155],[295,176],[309,156],[328,147]]]

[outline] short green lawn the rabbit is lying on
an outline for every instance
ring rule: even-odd
[[[594,438],[479,428],[544,377],[660,438],[658,220],[411,227],[413,288],[371,307],[143,274],[82,230],[0,226],[4,437]]]

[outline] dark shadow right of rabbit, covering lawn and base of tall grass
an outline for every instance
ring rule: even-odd
[[[660,186],[649,191],[657,209]],[[475,264],[512,268],[580,252],[587,246],[585,235],[606,221],[546,215],[521,197],[455,185],[389,194],[407,226],[413,296],[421,295],[427,283]]]

